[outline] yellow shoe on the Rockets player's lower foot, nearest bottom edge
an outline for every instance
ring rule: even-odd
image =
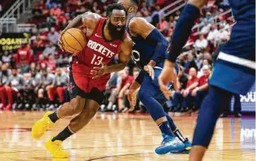
[[[52,138],[46,142],[46,149],[52,153],[53,158],[67,158],[68,153],[62,150],[62,141],[52,141]]]

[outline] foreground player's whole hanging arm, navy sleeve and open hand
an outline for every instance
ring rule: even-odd
[[[185,5],[182,14],[179,16],[172,35],[168,60],[166,60],[163,71],[158,78],[160,89],[166,98],[170,97],[169,88],[166,86],[169,82],[174,82],[175,89],[178,89],[178,85],[175,84],[175,60],[188,41],[191,29],[194,26],[194,20],[200,16],[200,9],[206,2],[207,0],[188,0],[188,4]]]

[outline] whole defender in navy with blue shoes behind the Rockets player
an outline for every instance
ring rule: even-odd
[[[131,57],[137,67],[141,69],[139,76],[129,88],[128,99],[131,110],[134,109],[136,91],[140,88],[137,96],[147,108],[156,125],[159,126],[163,135],[163,143],[156,148],[156,153],[189,153],[191,143],[188,138],[183,138],[172,118],[164,112],[162,103],[166,99],[158,85],[157,78],[163,68],[169,43],[154,26],[147,23],[147,20],[134,16],[139,1],[119,0],[118,3],[122,4],[128,11],[126,30],[134,42]],[[163,102],[159,101],[161,95]]]

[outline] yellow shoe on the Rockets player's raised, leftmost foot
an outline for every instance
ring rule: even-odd
[[[49,129],[54,123],[49,118],[49,115],[52,114],[52,111],[48,111],[44,114],[43,118],[38,120],[32,128],[31,135],[34,139],[40,139],[47,129]]]

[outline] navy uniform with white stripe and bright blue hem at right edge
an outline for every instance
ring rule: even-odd
[[[255,0],[229,3],[236,23],[217,57],[209,84],[247,94],[255,82]]]

